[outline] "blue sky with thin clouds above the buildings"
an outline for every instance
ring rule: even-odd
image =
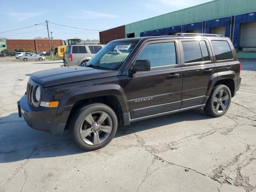
[[[78,28],[106,30],[208,1],[210,0],[44,0],[32,2],[1,0],[0,32],[32,26],[35,23],[45,22],[45,20]],[[99,38],[97,31],[67,28],[54,24],[49,24],[49,29],[53,32],[54,39]],[[0,33],[0,37],[8,39],[33,39],[37,36],[48,36],[45,26],[36,25],[13,32]]]

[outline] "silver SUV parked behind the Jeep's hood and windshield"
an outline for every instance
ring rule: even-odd
[[[103,46],[98,44],[68,45],[65,52],[64,66],[80,65],[89,61]]]

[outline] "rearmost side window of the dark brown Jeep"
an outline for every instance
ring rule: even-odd
[[[227,41],[212,40],[212,46],[217,61],[233,59],[233,54]]]

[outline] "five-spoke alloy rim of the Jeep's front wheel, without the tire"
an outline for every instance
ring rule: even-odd
[[[84,142],[97,145],[104,142],[112,131],[112,120],[103,111],[92,112],[80,126],[80,136]]]

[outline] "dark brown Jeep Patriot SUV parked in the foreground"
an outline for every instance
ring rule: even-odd
[[[114,40],[84,67],[30,76],[18,112],[34,129],[54,135],[69,129],[78,146],[96,150],[118,125],[194,108],[224,115],[240,87],[240,71],[232,42],[219,35]]]

